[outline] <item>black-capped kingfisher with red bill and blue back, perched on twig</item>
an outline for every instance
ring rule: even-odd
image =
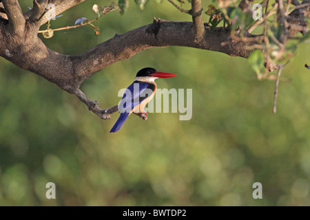
[[[118,104],[118,111],[121,112],[118,120],[112,127],[110,133],[116,132],[121,129],[127,117],[135,113],[145,113],[145,105],[151,100],[156,92],[156,78],[170,78],[176,74],[168,74],[164,72],[158,72],[154,68],[141,69],[134,79],[134,83],[130,85],[123,95],[123,98]]]

